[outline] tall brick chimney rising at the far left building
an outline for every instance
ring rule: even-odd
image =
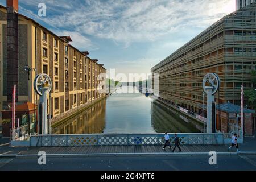
[[[7,104],[12,102],[13,85],[16,85],[18,102],[19,47],[18,47],[18,0],[7,0]]]

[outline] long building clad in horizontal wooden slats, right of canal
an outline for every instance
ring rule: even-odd
[[[241,85],[251,88],[256,66],[256,3],[218,20],[151,69],[159,74],[159,100],[203,113],[203,78],[217,73],[216,103],[241,103]],[[152,80],[154,85],[154,78]],[[205,96],[205,101],[207,100]],[[207,102],[205,102],[206,104]],[[245,105],[247,105],[247,100]]]

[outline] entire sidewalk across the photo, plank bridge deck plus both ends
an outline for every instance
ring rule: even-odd
[[[6,142],[6,144],[5,144]],[[174,153],[162,146],[86,146],[86,147],[11,147],[8,139],[0,138],[0,157],[36,157],[39,151],[49,156],[98,156],[98,155],[208,155],[216,151],[218,155],[237,155],[236,148],[230,152],[228,146],[181,146],[182,152]],[[256,138],[245,138],[240,145],[241,154],[256,154]]]

